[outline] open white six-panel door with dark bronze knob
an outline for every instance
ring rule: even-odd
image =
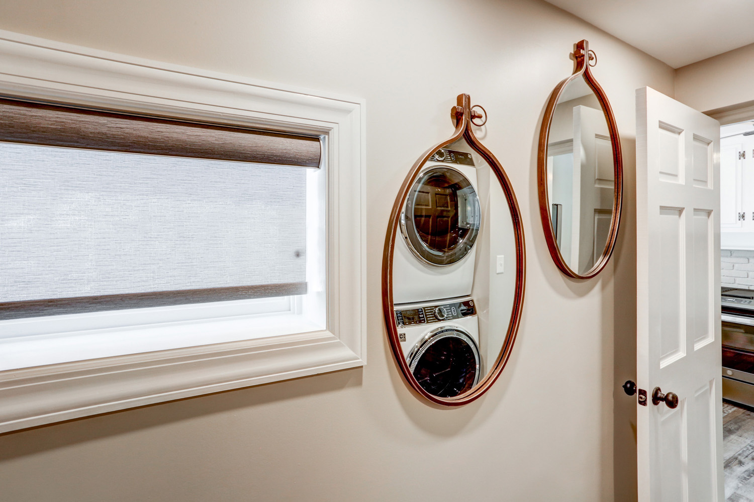
[[[719,124],[636,90],[640,502],[722,502]],[[678,396],[671,409],[652,393]],[[639,396],[641,401],[641,396]]]

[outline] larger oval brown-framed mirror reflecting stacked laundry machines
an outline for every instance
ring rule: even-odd
[[[467,94],[452,117],[453,136],[422,155],[400,188],[382,264],[397,366],[418,394],[449,406],[476,399],[500,375],[525,276],[513,188],[471,128],[486,118]]]

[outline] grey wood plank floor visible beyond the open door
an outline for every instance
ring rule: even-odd
[[[722,403],[725,500],[754,502],[754,412]]]

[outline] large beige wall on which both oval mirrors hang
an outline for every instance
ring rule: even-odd
[[[4,502],[635,498],[635,404],[620,389],[635,376],[634,90],[672,96],[673,69],[537,1],[25,0],[0,3],[0,29],[365,98],[369,226],[365,368],[0,436]],[[581,38],[627,191],[614,258],[586,282],[550,259],[535,170],[544,104]],[[507,369],[446,409],[397,372],[380,266],[400,182],[452,132],[458,93],[489,112],[482,140],[516,190],[528,268]]]

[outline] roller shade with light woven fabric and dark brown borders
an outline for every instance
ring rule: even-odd
[[[0,111],[0,320],[307,291],[308,170],[293,164],[319,165],[316,140],[157,121],[162,134],[185,132],[149,146],[145,130],[158,129],[146,119],[122,119],[129,139],[111,114],[75,111],[77,122],[50,108]],[[23,109],[41,112],[25,127],[43,144],[10,125],[24,123]],[[93,117],[118,126],[97,138]],[[262,139],[301,142],[308,158],[255,150]]]

